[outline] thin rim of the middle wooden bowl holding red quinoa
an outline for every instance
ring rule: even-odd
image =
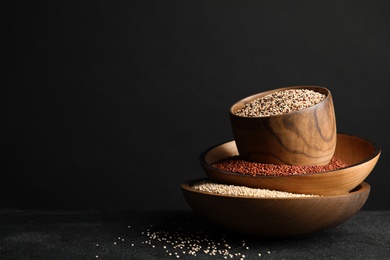
[[[302,176],[309,176],[309,175],[315,175],[315,174],[333,173],[333,172],[339,172],[339,171],[342,171],[342,170],[345,170],[345,169],[353,168],[353,167],[362,165],[362,164],[364,164],[366,162],[369,162],[369,161],[373,160],[374,158],[379,156],[381,154],[381,152],[382,152],[381,146],[378,143],[372,141],[371,139],[368,139],[368,138],[365,138],[365,137],[362,137],[362,136],[359,136],[359,135],[355,135],[355,134],[338,133],[337,136],[339,136],[339,135],[355,137],[355,138],[359,138],[361,140],[364,140],[364,141],[370,143],[374,147],[374,151],[373,151],[373,153],[369,157],[367,157],[363,161],[355,163],[355,164],[348,165],[346,167],[343,167],[343,168],[340,168],[340,169],[337,169],[337,170],[330,170],[330,171],[323,171],[323,172],[312,172],[312,173],[297,174],[297,175],[255,175],[255,176],[252,176],[252,175],[247,175],[247,174],[240,174],[240,173],[234,173],[234,172],[228,172],[228,171],[220,170],[218,168],[212,167],[209,163],[206,162],[206,156],[207,156],[207,154],[211,150],[213,150],[213,149],[215,149],[215,148],[217,148],[219,146],[222,146],[224,144],[227,144],[227,143],[230,143],[230,142],[235,142],[235,140],[225,141],[225,142],[222,142],[222,143],[219,143],[219,144],[216,144],[216,145],[214,145],[212,147],[207,148],[206,150],[204,150],[200,154],[199,161],[200,161],[200,164],[201,164],[202,167],[208,168],[210,170],[216,170],[216,171],[218,171],[220,173],[229,174],[229,175],[233,175],[233,176],[241,176],[241,177],[248,177],[248,178],[293,178],[293,177],[297,177],[297,176],[302,177]],[[337,146],[337,143],[336,143],[336,146]]]

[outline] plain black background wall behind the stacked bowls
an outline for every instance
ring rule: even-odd
[[[0,207],[187,209],[233,102],[318,85],[390,209],[388,1],[53,2],[2,4]]]

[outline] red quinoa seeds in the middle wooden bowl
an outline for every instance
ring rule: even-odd
[[[344,168],[347,166],[347,164],[336,157],[333,157],[332,160],[326,165],[301,166],[249,162],[240,159],[239,156],[233,156],[219,160],[218,162],[213,163],[211,166],[227,172],[241,173],[252,176],[287,176],[332,171]]]

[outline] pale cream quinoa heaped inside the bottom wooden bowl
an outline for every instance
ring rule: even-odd
[[[285,191],[276,191],[268,189],[249,188],[245,186],[227,185],[215,183],[209,180],[203,180],[192,185],[192,188],[209,193],[228,195],[228,196],[245,196],[258,198],[296,198],[296,197],[319,197],[320,195],[298,194]]]

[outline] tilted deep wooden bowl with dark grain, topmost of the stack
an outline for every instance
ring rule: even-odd
[[[320,103],[268,117],[243,117],[234,114],[251,101],[287,89],[309,89],[326,95]],[[230,122],[240,156],[247,161],[324,165],[336,147],[336,117],[333,99],[327,88],[294,86],[258,93],[244,98],[230,108]]]

